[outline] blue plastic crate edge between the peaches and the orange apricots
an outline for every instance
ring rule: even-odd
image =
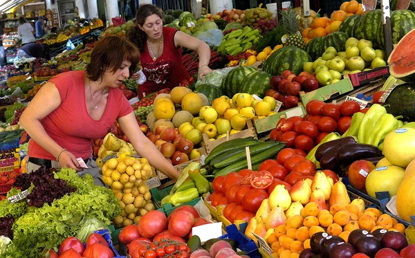
[[[226,232],[220,239],[232,239],[239,243],[239,249],[243,252],[246,252],[245,255],[248,255],[251,258],[261,258],[262,255],[259,253],[258,247],[255,242],[251,239],[248,239],[245,234],[238,230],[237,226],[234,224],[228,225],[226,227]]]

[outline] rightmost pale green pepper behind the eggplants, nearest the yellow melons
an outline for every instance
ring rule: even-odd
[[[398,128],[398,120],[390,113],[384,113],[376,122],[374,129],[367,138],[367,144],[378,147],[379,142],[387,136],[390,131]]]

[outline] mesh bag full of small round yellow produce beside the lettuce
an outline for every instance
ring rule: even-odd
[[[111,187],[122,212],[114,219],[116,228],[138,223],[141,217],[154,210],[149,187],[145,184],[153,174],[147,158],[133,158],[120,154],[102,166],[102,180]]]

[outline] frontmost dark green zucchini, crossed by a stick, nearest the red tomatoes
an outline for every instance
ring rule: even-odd
[[[286,147],[286,144],[281,142],[276,147],[272,147],[268,149],[267,151],[262,151],[260,154],[257,154],[251,157],[251,164],[255,165],[255,164],[261,163],[264,160],[267,160],[268,158],[275,158],[275,156],[277,156],[279,151],[281,151],[285,147]],[[246,167],[248,167],[247,160],[240,160],[237,163],[233,163],[232,165],[229,165],[228,167],[224,167],[219,172],[214,174],[214,177],[226,176],[230,172],[239,172],[239,170],[244,169]]]

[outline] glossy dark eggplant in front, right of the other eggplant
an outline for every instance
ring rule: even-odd
[[[351,164],[356,160],[378,156],[382,156],[382,151],[378,147],[364,143],[353,143],[340,147],[335,154],[335,160],[338,164]]]

